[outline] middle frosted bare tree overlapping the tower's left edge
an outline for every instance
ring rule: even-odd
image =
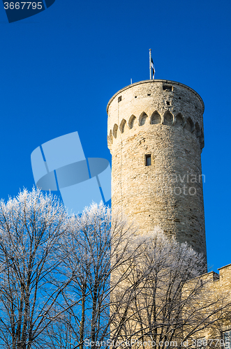
[[[127,278],[137,258],[133,233],[126,221],[112,218],[111,210],[102,203],[70,218],[60,248],[66,256],[63,273],[66,276],[71,271],[74,277],[62,292],[68,311],[49,328],[51,348],[82,349],[89,343],[96,348],[110,339],[110,325],[117,316],[111,311],[111,294],[126,282],[124,274],[119,274],[121,267]],[[77,299],[80,302],[76,303]]]

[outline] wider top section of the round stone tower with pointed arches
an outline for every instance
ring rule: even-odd
[[[124,87],[107,104],[108,147],[125,128],[163,124],[182,126],[204,147],[202,98],[190,87],[170,80],[144,80]],[[121,135],[120,135],[121,137]]]

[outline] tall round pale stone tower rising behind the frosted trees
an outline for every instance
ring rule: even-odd
[[[145,234],[158,225],[206,258],[202,98],[169,80],[124,87],[107,105],[112,210]]]

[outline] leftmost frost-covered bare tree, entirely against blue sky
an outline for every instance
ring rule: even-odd
[[[59,200],[36,188],[0,202],[0,348],[45,348],[45,329],[64,312],[57,301],[71,273],[53,281],[66,220]]]

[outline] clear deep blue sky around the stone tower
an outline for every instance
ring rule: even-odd
[[[231,2],[56,0],[9,24],[0,3],[0,196],[33,186],[31,151],[78,131],[87,157],[110,160],[106,106],[149,78],[179,81],[202,96],[202,151],[209,265],[230,255]]]

